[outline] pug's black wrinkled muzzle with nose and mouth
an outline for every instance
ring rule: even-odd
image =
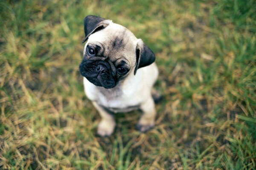
[[[79,65],[79,71],[83,77],[96,86],[104,88],[116,86],[117,81],[112,76],[110,66],[106,62],[82,62]]]

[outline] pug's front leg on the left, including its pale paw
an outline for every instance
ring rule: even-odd
[[[111,113],[108,113],[102,106],[93,102],[94,107],[99,111],[102,120],[99,122],[97,133],[99,136],[110,136],[116,126],[115,119]]]

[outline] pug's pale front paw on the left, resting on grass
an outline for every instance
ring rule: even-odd
[[[102,120],[99,122],[97,134],[102,137],[110,136],[113,133],[115,126],[115,122]]]

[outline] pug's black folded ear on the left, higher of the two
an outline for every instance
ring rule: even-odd
[[[82,43],[88,40],[88,37],[104,28],[106,28],[112,21],[111,20],[106,20],[101,17],[97,17],[94,15],[88,15],[87,17],[84,18],[84,34],[85,38]]]

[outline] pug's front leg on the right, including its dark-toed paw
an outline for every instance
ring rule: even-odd
[[[148,100],[140,106],[140,109],[143,111],[143,115],[140,117],[136,127],[141,132],[145,132],[154,127],[156,109],[153,98],[148,98]]]

